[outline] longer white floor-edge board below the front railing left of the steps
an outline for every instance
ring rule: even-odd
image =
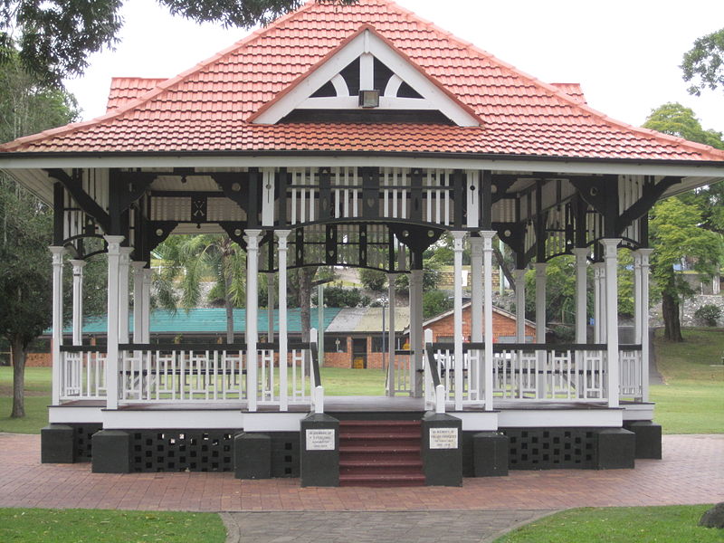
[[[103,410],[105,430],[243,428],[241,409]]]

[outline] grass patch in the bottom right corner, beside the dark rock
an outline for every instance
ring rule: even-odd
[[[567,510],[513,530],[496,543],[707,543],[721,530],[697,526],[710,505]]]

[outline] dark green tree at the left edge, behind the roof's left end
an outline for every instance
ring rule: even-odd
[[[20,138],[76,118],[75,100],[24,71],[5,44],[0,64],[0,140]],[[0,334],[13,361],[13,409],[22,417],[28,345],[51,325],[52,242],[50,210],[33,195],[0,176]]]

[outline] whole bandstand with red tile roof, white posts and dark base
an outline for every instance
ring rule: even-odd
[[[387,0],[311,2],[174,78],[115,79],[105,116],[0,150],[0,167],[54,209],[43,462],[379,485],[661,457],[647,214],[724,178],[722,151],[609,119],[576,84],[538,81]],[[226,233],[246,251],[243,341],[149,342],[150,253],[183,233]],[[426,338],[422,318],[422,255],[443,233],[454,243],[450,344]],[[519,343],[485,340],[495,236],[516,257]],[[90,238],[108,254],[103,348],[81,335]],[[633,252],[633,344],[618,336],[621,249]],[[553,345],[546,267],[564,254],[576,259],[576,339]],[[286,271],[319,265],[409,274],[410,349],[389,353],[386,396],[325,397],[316,344],[288,340]],[[256,317],[260,273],[276,277],[271,329]]]

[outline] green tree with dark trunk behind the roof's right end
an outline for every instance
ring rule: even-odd
[[[724,148],[721,133],[703,129],[693,110],[681,104],[663,104],[652,110],[643,127]],[[705,277],[719,271],[724,233],[723,198],[724,185],[719,183],[660,202],[653,208],[652,275],[655,287],[662,293],[664,334],[672,341],[683,340],[679,305],[682,298],[691,296],[691,288],[674,272],[674,265],[687,256]]]

